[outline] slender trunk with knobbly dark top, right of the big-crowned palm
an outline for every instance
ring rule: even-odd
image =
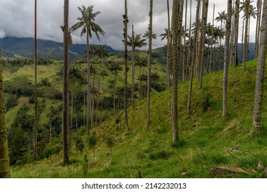
[[[124,78],[124,113],[125,113],[125,125],[127,130],[129,130],[128,124],[128,115],[127,115],[127,24],[128,24],[128,10],[127,10],[127,0],[125,0],[125,14],[123,15],[123,23],[124,23],[124,64],[125,64],[125,78]]]

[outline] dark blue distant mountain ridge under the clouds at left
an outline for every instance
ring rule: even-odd
[[[16,38],[5,37],[0,39],[1,54],[5,57],[23,56],[34,58],[34,38]],[[37,40],[38,56],[42,58],[54,58],[57,60],[63,59],[63,43],[54,42],[51,40]],[[100,46],[100,45],[96,45]],[[117,53],[110,46],[105,45],[105,49],[109,53]],[[75,44],[70,47],[70,57],[78,58],[83,56],[86,51],[86,45]]]

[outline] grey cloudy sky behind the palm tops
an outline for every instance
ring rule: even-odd
[[[63,0],[38,1],[38,38],[62,42]],[[137,34],[144,34],[149,25],[149,0],[129,0],[129,32],[131,25]],[[185,1],[186,2],[186,1]],[[216,3],[215,16],[220,10],[227,10],[227,0],[209,0],[208,21],[212,22],[213,4]],[[70,0],[69,23],[77,23],[80,12],[77,7],[94,5],[94,12],[101,12],[96,22],[105,31],[101,42],[94,35],[90,43],[110,45],[116,50],[123,50],[123,17],[124,0]],[[172,1],[170,0],[170,8]],[[255,2],[253,2],[255,5]],[[192,22],[196,12],[196,1],[192,0]],[[188,25],[190,18],[190,0],[188,0]],[[185,14],[185,12],[184,12]],[[220,25],[220,23],[214,23]],[[240,22],[241,30],[242,22]],[[251,42],[255,40],[255,21],[251,21]],[[167,28],[166,0],[153,1],[153,32],[157,40],[153,40],[153,48],[166,44],[160,40],[160,34]],[[80,30],[73,33],[74,43],[86,43],[85,37],[80,37]],[[0,0],[0,38],[5,36],[34,37],[34,0]]]

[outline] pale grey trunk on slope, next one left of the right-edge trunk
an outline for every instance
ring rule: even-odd
[[[227,21],[226,21],[226,34],[225,34],[225,57],[224,57],[224,70],[223,70],[223,117],[227,112],[227,87],[228,87],[228,67],[229,67],[229,41],[231,32],[231,12],[232,0],[227,2]]]

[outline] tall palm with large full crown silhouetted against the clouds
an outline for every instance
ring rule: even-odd
[[[93,12],[94,6],[89,6],[86,8],[84,5],[82,5],[81,8],[78,7],[78,10],[81,12],[81,17],[78,17],[77,20],[79,21],[73,27],[71,27],[72,31],[75,31],[82,27],[81,29],[81,36],[83,34],[86,34],[86,44],[87,44],[87,69],[88,69],[88,74],[87,74],[87,81],[88,81],[88,95],[87,95],[87,134],[89,134],[89,120],[91,121],[91,128],[93,125],[93,119],[92,115],[90,116],[90,111],[91,111],[91,98],[90,98],[90,54],[89,54],[89,38],[92,37],[92,32],[97,36],[97,39],[100,40],[99,34],[105,35],[105,32],[97,23],[95,23],[95,17],[100,14],[100,12]],[[91,119],[89,119],[91,117]]]

